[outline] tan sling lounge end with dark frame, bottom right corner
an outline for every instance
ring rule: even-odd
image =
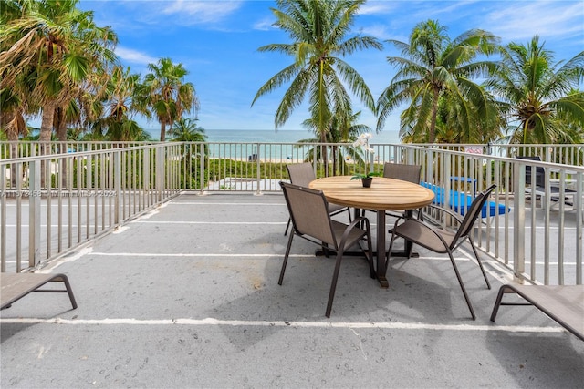
[[[516,292],[527,302],[501,302],[509,292]],[[584,341],[584,285],[503,285],[496,297],[491,322],[495,322],[500,305],[534,305]]]

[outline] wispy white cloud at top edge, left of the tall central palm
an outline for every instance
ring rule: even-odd
[[[222,20],[238,10],[241,1],[175,0],[162,9],[166,15],[179,15],[183,24],[205,24]]]

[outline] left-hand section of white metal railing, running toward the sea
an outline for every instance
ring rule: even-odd
[[[0,159],[1,270],[36,267],[178,194],[179,149]]]

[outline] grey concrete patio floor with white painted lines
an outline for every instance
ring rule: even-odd
[[[2,311],[0,385],[582,387],[584,342],[556,322],[533,307],[489,321],[510,280],[495,261],[488,290],[456,252],[473,321],[446,257],[391,261],[386,290],[347,257],[327,319],[334,261],[316,246],[295,240],[277,284],[286,223],[280,194],[183,194],[52,261],[78,309],[34,293]]]

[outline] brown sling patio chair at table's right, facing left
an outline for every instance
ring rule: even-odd
[[[468,212],[464,215],[464,219],[461,220],[460,215],[453,212],[452,210],[448,210],[446,208],[437,207],[431,205],[431,208],[435,208],[446,214],[452,216],[454,220],[458,223],[458,228],[455,230],[446,230],[445,228],[439,226],[433,226],[424,220],[416,220],[416,219],[404,219],[400,218],[395,221],[393,229],[390,230],[391,232],[391,241],[390,241],[390,249],[388,251],[388,261],[391,256],[391,249],[393,247],[393,241],[396,238],[401,237],[404,238],[406,241],[411,241],[414,244],[419,244],[420,246],[434,252],[438,253],[447,253],[450,257],[450,261],[454,268],[454,273],[456,274],[456,279],[460,284],[460,287],[464,294],[464,300],[468,305],[468,309],[471,312],[471,316],[473,320],[476,319],[476,315],[474,314],[473,305],[466,293],[466,289],[464,288],[463,279],[460,276],[460,272],[458,271],[458,267],[456,266],[456,262],[454,261],[453,251],[455,251],[460,245],[468,240],[471,243],[471,247],[474,251],[474,257],[478,262],[481,271],[483,272],[483,277],[485,278],[486,286],[488,289],[491,289],[491,284],[489,283],[488,279],[486,278],[485,269],[483,268],[483,263],[474,247],[474,241],[471,238],[471,232],[474,227],[474,223],[478,220],[478,217],[485,205],[485,201],[488,199],[491,192],[496,188],[496,185],[491,185],[489,188],[485,189],[485,191],[480,192],[471,203],[471,206]],[[401,220],[404,220],[401,224]],[[387,266],[386,266],[387,269]]]

